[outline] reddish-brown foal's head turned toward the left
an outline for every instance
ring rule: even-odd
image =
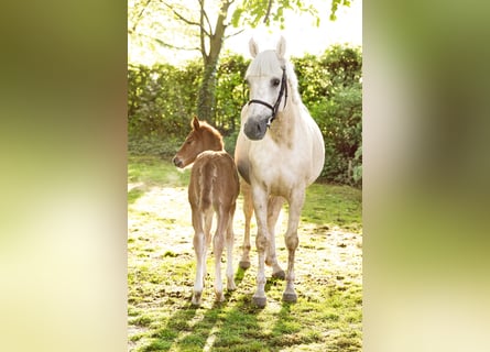
[[[218,130],[205,121],[199,121],[197,117],[194,117],[190,127],[193,130],[173,158],[173,162],[177,167],[186,167],[194,163],[197,155],[204,151],[224,150],[222,136]]]

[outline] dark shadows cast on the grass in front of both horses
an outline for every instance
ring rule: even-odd
[[[241,268],[236,272],[237,286],[244,273]],[[266,289],[277,285],[285,283],[268,278]],[[152,336],[156,340],[143,351],[277,351],[312,342],[297,333],[302,326],[291,314],[294,304],[282,302],[280,311],[271,314],[255,307],[250,293],[227,293],[224,302],[210,308],[195,307],[189,299]]]

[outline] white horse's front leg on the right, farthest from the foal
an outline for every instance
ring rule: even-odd
[[[282,296],[284,301],[291,302],[297,300],[297,295],[294,290],[294,256],[298,244],[297,226],[300,223],[300,216],[304,201],[304,187],[296,187],[293,189],[290,197],[290,218],[287,220],[287,231],[285,234],[285,243],[287,248],[286,289]]]

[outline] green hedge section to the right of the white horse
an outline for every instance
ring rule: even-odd
[[[293,59],[303,102],[325,140],[322,176],[334,183],[362,183],[362,53],[334,45],[324,55]]]

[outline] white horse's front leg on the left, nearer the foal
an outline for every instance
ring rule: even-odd
[[[257,272],[257,292],[252,297],[253,304],[260,308],[265,307],[265,251],[268,249],[268,194],[260,187],[252,186],[253,207],[257,219],[255,245],[259,256],[259,267]]]

